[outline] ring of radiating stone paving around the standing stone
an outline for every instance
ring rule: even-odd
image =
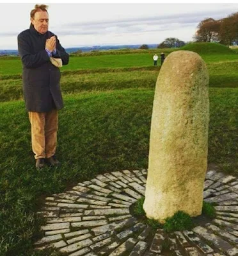
[[[115,171],[45,198],[47,224],[37,250],[54,247],[70,256],[238,255],[238,180],[208,171],[204,200],[216,203],[216,219],[193,230],[166,234],[131,215],[145,195],[147,170]]]

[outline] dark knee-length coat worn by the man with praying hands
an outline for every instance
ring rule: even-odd
[[[53,108],[63,108],[59,86],[59,68],[51,64],[45,51],[45,42],[54,35],[51,31],[40,34],[31,24],[29,30],[22,31],[18,37],[18,51],[23,64],[23,91],[26,109],[32,112],[49,112]],[[63,65],[68,64],[68,53],[56,37],[56,55]]]

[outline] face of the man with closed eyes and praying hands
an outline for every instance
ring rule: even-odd
[[[35,17],[31,18],[31,23],[33,24],[36,31],[44,34],[48,31],[49,26],[49,15],[47,12],[40,11],[35,13]]]

